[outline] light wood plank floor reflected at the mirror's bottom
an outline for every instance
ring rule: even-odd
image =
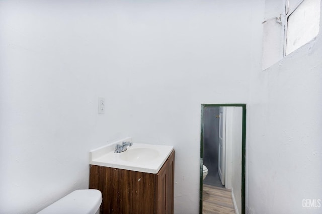
[[[231,190],[216,186],[203,185],[202,213],[229,213],[234,214],[231,199]]]

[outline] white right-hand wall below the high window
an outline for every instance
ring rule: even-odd
[[[261,28],[258,23],[253,31]],[[258,38],[253,41],[260,47]],[[320,29],[316,39],[269,69],[254,64],[247,111],[249,213],[321,212],[302,208],[303,199],[322,199],[321,59]]]

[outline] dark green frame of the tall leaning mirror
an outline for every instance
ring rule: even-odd
[[[205,107],[216,106],[235,106],[243,108],[243,130],[241,139],[241,214],[245,214],[246,200],[245,200],[245,180],[246,180],[246,104],[201,104],[201,132],[200,132],[200,205],[199,213],[202,214],[202,165],[203,165],[203,114]]]

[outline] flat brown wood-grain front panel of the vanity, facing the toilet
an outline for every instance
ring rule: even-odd
[[[100,213],[154,212],[155,174],[92,165],[90,188],[102,192]]]

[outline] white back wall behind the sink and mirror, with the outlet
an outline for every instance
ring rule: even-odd
[[[0,212],[88,188],[89,150],[132,136],[174,145],[175,212],[197,213],[201,103],[248,103],[251,4],[1,1]]]

